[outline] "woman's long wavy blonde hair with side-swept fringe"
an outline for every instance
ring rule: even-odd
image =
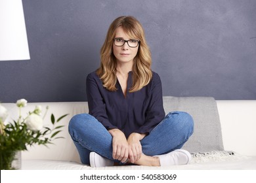
[[[129,37],[140,41],[137,56],[133,59],[133,85],[128,89],[129,92],[137,92],[152,79],[152,59],[150,49],[146,44],[144,29],[133,16],[120,16],[110,25],[105,42],[100,49],[100,67],[96,70],[96,74],[107,90],[117,90],[116,57],[113,54],[113,44],[116,29],[119,26],[122,26],[123,31]]]

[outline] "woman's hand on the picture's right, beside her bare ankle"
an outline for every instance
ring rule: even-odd
[[[146,134],[131,133],[128,137],[127,142],[129,144],[129,160],[131,163],[135,163],[141,158],[142,146],[140,140],[142,140]]]

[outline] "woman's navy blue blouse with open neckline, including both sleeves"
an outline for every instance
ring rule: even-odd
[[[133,73],[129,72],[127,88],[132,86]],[[126,137],[133,132],[150,133],[165,117],[160,76],[153,72],[147,86],[137,92],[123,95],[117,80],[117,91],[103,87],[96,72],[87,76],[86,89],[89,114],[106,129],[120,129]]]

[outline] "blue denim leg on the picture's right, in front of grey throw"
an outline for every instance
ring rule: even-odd
[[[194,122],[186,112],[170,112],[148,136],[140,141],[147,156],[166,154],[179,149],[194,131]]]

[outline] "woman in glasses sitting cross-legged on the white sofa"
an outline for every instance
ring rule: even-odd
[[[129,163],[181,165],[181,150],[193,133],[186,112],[165,116],[160,76],[142,25],[132,16],[116,18],[100,50],[100,67],[87,76],[89,114],[77,114],[69,132],[82,163],[104,167]]]

